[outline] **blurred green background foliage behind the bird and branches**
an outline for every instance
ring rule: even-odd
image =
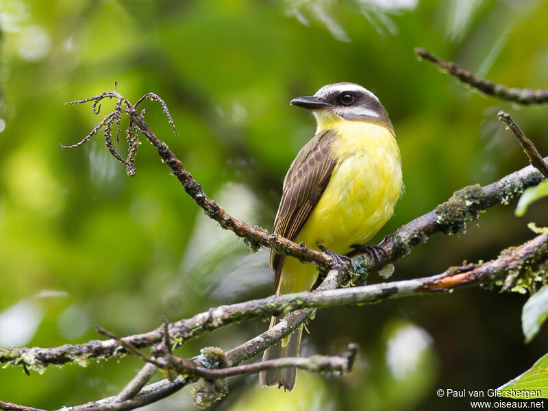
[[[82,343],[97,338],[93,325],[145,332],[162,314],[175,321],[271,292],[267,252],[249,253],[208,220],[147,142],[131,178],[101,136],[60,149],[102,118],[65,101],[112,90],[114,81],[132,100],[158,93],[179,138],[148,102],[154,132],[229,213],[270,229],[284,174],[315,127],[288,101],[327,83],[358,82],[388,109],[403,158],[406,194],[380,239],[454,190],[527,164],[498,110],[548,153],[547,108],[472,92],[418,62],[413,47],[495,82],[546,88],[547,18],[548,1],[536,0],[0,0],[0,345]],[[547,200],[521,219],[514,206],[488,210],[460,238],[434,236],[392,278],[493,258],[533,236],[529,221],[548,225]],[[353,373],[299,373],[286,395],[259,388],[255,376],[233,378],[217,407],[460,410],[465,399],[438,399],[436,389],[496,388],[546,353],[546,328],[523,343],[526,298],[466,288],[322,310],[303,354],[360,343]],[[229,349],[266,327],[227,327],[178,354]],[[0,369],[0,398],[71,406],[114,395],[140,366],[131,357],[30,377],[8,367]],[[185,388],[148,409],[193,407]]]

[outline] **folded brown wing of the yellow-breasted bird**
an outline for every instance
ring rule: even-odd
[[[329,182],[335,160],[329,154],[333,132],[316,134],[297,154],[284,179],[282,201],[279,203],[274,232],[295,240],[310,212]],[[276,291],[286,256],[270,252],[270,266],[274,270]]]

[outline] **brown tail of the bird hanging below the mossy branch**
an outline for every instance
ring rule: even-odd
[[[273,316],[270,321],[270,328],[274,327],[274,325],[276,325],[281,319],[282,317]],[[262,355],[262,360],[266,361],[282,357],[298,357],[302,335],[303,326],[301,325],[290,336],[289,342],[285,345],[285,347],[283,346],[286,342],[286,339],[284,338],[282,342],[266,349]],[[266,370],[259,373],[259,381],[263,386],[278,386],[278,388],[284,387],[284,390],[288,391],[292,390],[295,386],[295,379],[297,379],[297,369],[294,367]]]

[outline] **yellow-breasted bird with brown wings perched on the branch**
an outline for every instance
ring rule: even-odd
[[[403,192],[394,127],[377,96],[356,83],[327,84],[290,105],[312,111],[317,127],[286,174],[274,232],[342,257],[379,232]],[[309,291],[319,275],[313,264],[273,250],[269,263],[276,295]],[[282,318],[273,316],[270,328]],[[262,360],[299,356],[302,333],[303,325],[266,349]],[[263,386],[290,391],[297,369],[265,370],[259,378]]]

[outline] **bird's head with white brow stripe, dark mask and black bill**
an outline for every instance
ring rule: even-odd
[[[340,121],[379,123],[392,129],[388,112],[377,96],[356,83],[327,84],[315,95],[297,97],[290,104],[312,110],[319,129]]]

